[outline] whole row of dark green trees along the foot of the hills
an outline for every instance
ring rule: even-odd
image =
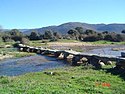
[[[76,27],[67,31],[67,34],[59,34],[58,32],[47,30],[43,34],[36,30],[33,30],[30,34],[24,34],[18,29],[12,29],[2,32],[0,30],[0,42],[12,42],[19,41],[21,43],[27,43],[29,40],[50,40],[57,41],[58,39],[74,39],[79,41],[98,41],[107,40],[113,42],[125,41],[125,30],[121,31],[121,34],[115,32],[97,32],[94,30],[84,30],[82,27]]]

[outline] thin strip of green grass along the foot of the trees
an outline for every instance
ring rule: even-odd
[[[59,39],[58,41],[55,42],[49,42],[49,40],[36,40],[36,41],[30,41],[29,45],[31,46],[48,46],[49,43],[82,43],[82,44],[94,44],[94,45],[99,45],[99,44],[108,44],[108,45],[118,45],[118,44],[125,44],[125,42],[110,42],[110,41],[95,41],[95,42],[82,42],[78,40],[67,40],[67,39]],[[16,42],[0,42],[0,46],[4,47],[5,45],[13,45]]]

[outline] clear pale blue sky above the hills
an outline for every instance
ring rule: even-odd
[[[0,0],[0,25],[4,29],[67,22],[125,23],[125,0]]]

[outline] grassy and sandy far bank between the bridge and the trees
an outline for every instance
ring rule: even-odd
[[[0,47],[5,47],[6,45],[10,45],[13,47],[13,44],[16,42],[0,42]],[[52,48],[52,46],[66,46],[67,49],[73,49],[74,51],[78,52],[83,52],[83,46],[108,46],[108,45],[124,45],[125,42],[110,42],[110,41],[95,41],[95,42],[82,42],[82,41],[77,41],[77,40],[67,40],[67,39],[59,39],[58,41],[55,42],[49,42],[49,40],[37,40],[37,41],[30,41],[28,45],[34,46],[34,47],[47,47],[47,48]],[[12,48],[13,49],[13,48]],[[0,53],[1,52],[12,52],[12,49],[7,49],[7,48],[0,48]],[[53,48],[52,48],[53,49]],[[61,50],[66,50],[66,49],[61,49]],[[17,53],[13,52],[11,53],[15,57],[22,57],[22,56],[28,56],[28,55],[33,55],[32,53]]]

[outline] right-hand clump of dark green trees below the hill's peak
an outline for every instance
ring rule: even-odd
[[[124,34],[123,34],[124,33]],[[117,34],[115,32],[97,32],[94,30],[83,30],[82,27],[76,27],[75,29],[70,29],[68,31],[70,39],[76,39],[80,41],[99,41],[99,40],[107,40],[113,42],[121,42],[125,41],[125,30],[121,31],[121,34]]]

